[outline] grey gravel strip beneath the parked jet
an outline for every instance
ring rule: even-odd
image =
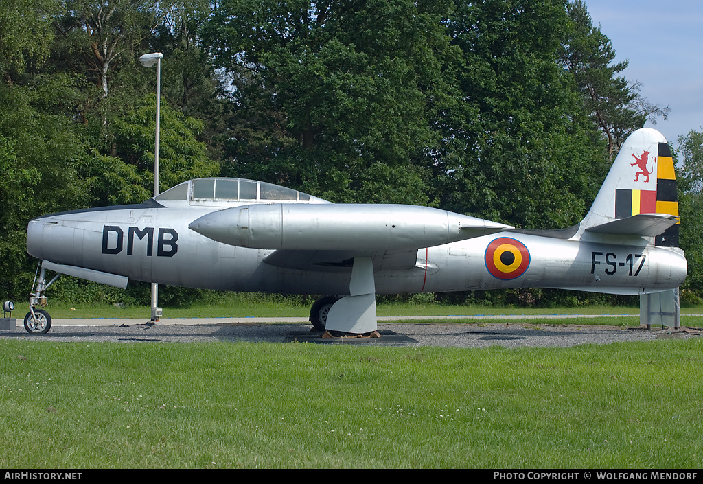
[[[54,326],[46,335],[30,335],[18,327],[0,331],[0,339],[32,341],[71,341],[116,343],[204,343],[213,341],[248,341],[290,343],[292,341],[321,344],[380,346],[440,346],[486,348],[561,347],[590,343],[606,344],[621,341],[651,341],[668,337],[697,338],[701,331],[614,326],[579,326],[574,324],[378,324],[380,338],[323,339],[311,331],[309,324],[198,324],[198,325],[100,325]]]

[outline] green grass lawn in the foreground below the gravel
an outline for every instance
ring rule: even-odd
[[[486,350],[1,339],[0,466],[698,468],[703,340]]]

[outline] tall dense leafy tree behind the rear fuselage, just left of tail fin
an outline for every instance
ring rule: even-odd
[[[602,149],[557,62],[562,1],[457,2],[460,96],[442,119],[437,191],[449,210],[531,228],[574,224],[602,180]]]

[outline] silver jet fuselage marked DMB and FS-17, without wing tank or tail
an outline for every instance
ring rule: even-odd
[[[231,246],[188,228],[214,211],[162,207],[152,201],[129,208],[49,215],[30,222],[27,250],[57,264],[158,284],[224,291],[349,293],[351,264],[316,263],[319,251],[308,251],[307,269],[285,260],[270,263],[267,258],[276,257],[276,250]],[[394,294],[556,287],[640,294],[675,288],[685,279],[681,250],[648,245],[646,238],[636,236],[623,237],[621,244],[591,238],[578,241],[505,231],[411,250],[403,256],[410,262],[401,267],[394,263],[385,267],[384,257],[379,256],[375,257],[375,289]]]

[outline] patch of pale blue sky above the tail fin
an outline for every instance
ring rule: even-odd
[[[620,73],[642,84],[652,104],[669,106],[656,125],[678,147],[678,137],[703,126],[703,1],[584,0],[593,25],[612,41]]]

